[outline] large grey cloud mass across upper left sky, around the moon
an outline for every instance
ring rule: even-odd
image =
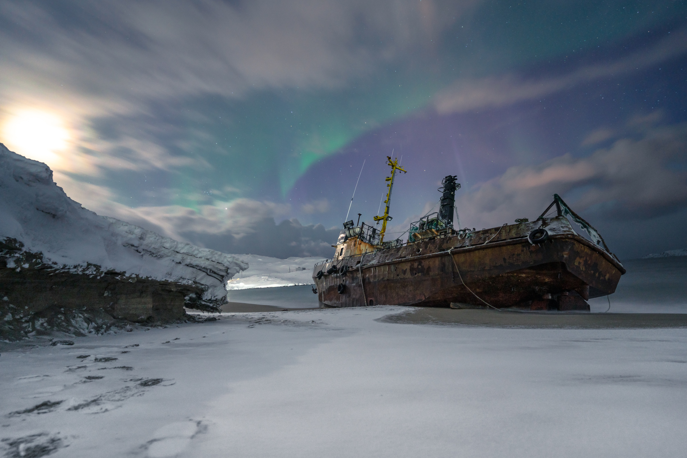
[[[192,153],[213,152],[208,119],[189,112],[170,121],[165,111],[200,98],[345,87],[431,47],[476,3],[0,2],[0,16],[11,18],[0,27],[0,124],[27,108],[60,119],[71,141],[48,162],[71,174],[207,171]]]

